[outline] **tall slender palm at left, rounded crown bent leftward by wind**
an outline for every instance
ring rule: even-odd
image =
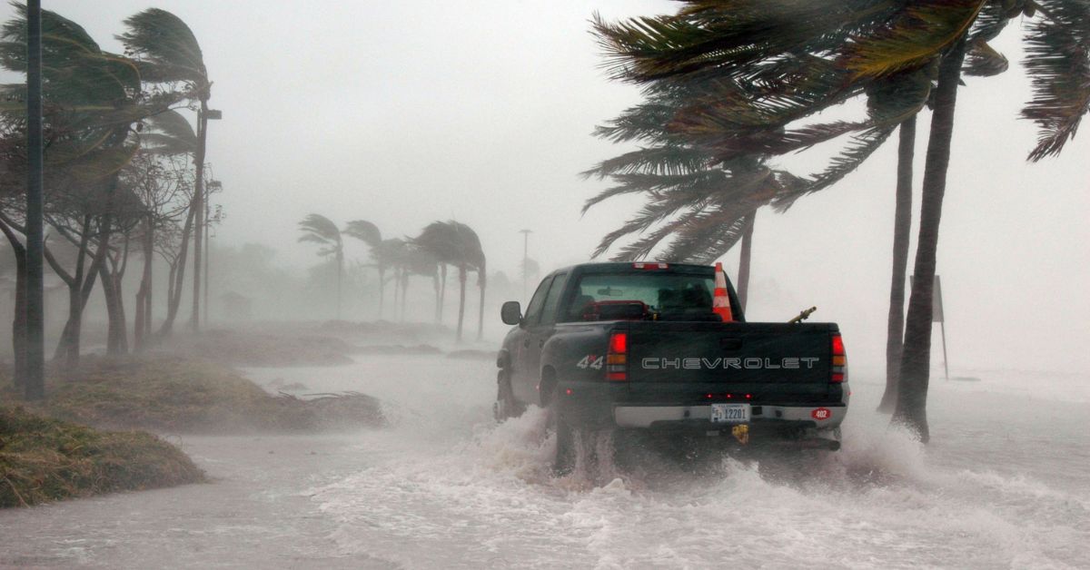
[[[193,330],[201,328],[201,263],[205,228],[204,163],[208,132],[208,98],[211,81],[205,69],[204,54],[193,31],[180,17],[158,8],[149,8],[125,19],[129,31],[117,36],[125,50],[141,62],[144,81],[183,83],[187,97],[199,104],[197,112],[197,146],[193,163],[196,171],[193,189],[195,233],[193,239]]]

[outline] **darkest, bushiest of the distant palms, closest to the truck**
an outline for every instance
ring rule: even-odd
[[[459,302],[458,302],[458,341],[462,340],[462,324],[465,318],[465,280],[467,272],[477,272],[477,287],[481,290],[481,306],[477,322],[477,339],[484,335],[484,299],[486,287],[486,262],[481,247],[481,239],[469,226],[449,221],[429,223],[412,243],[429,253],[439,264],[458,267]]]

